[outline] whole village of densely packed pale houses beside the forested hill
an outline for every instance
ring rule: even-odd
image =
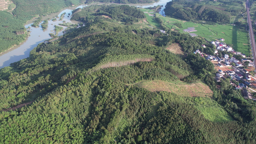
[[[215,55],[207,55],[197,49],[194,53],[199,53],[206,60],[210,60],[217,70],[216,82],[221,82],[225,79],[230,79],[230,84],[236,90],[241,90],[245,99],[256,100],[256,78],[254,72],[254,63],[251,58],[246,58],[241,52],[236,52],[225,42],[225,39],[212,41],[211,44],[216,46]],[[202,47],[206,48],[205,45]],[[225,51],[226,54],[219,55],[218,53]],[[235,57],[241,58],[237,60]],[[218,86],[218,85],[217,85]]]

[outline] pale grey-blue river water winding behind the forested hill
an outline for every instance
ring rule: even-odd
[[[158,2],[155,3],[146,3],[146,4],[128,4],[131,6],[136,6],[136,7],[141,7],[141,8],[147,8],[147,7],[154,7],[157,5],[163,5],[163,7],[161,8],[161,11],[159,12],[161,15],[164,15],[164,8],[167,2],[169,2],[171,0],[160,0]],[[102,3],[95,3],[95,4],[102,4]],[[85,7],[85,5],[81,5],[77,8],[83,8]],[[75,21],[70,21],[71,17],[68,17],[68,14],[71,13],[72,14],[71,9],[65,9],[61,12],[59,12],[58,17],[61,16],[62,13],[66,12],[66,14],[64,15],[64,18],[60,21],[57,18],[57,21],[53,22],[51,20],[48,20],[49,24],[48,24],[48,28],[43,31],[43,29],[41,28],[41,26],[35,28],[35,27],[31,27],[31,24],[27,24],[25,25],[25,28],[30,27],[30,29],[28,29],[30,31],[30,36],[26,39],[26,41],[24,41],[23,43],[21,43],[20,45],[11,48],[5,52],[3,52],[2,54],[0,54],[0,68],[9,66],[11,63],[25,59],[27,57],[29,57],[29,53],[30,51],[37,47],[38,44],[44,42],[45,40],[50,39],[51,37],[49,36],[49,33],[54,33],[54,25],[58,25],[61,24],[62,21],[66,21],[66,23],[73,23],[76,24],[77,22]],[[51,17],[52,18],[52,17]],[[45,18],[43,18],[43,20],[45,20]],[[31,21],[30,21],[31,22]],[[58,25],[61,26],[61,25]],[[65,26],[62,26],[63,30],[65,30]],[[63,31],[62,30],[62,31]],[[63,35],[63,33],[59,32],[58,36]]]

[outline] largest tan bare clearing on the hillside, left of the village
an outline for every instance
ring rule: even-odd
[[[196,82],[193,84],[187,84],[181,81],[174,81],[173,83],[165,81],[142,81],[134,84],[138,87],[146,88],[151,92],[166,91],[175,93],[179,96],[200,96],[200,97],[211,97],[213,95],[212,90],[201,82]]]

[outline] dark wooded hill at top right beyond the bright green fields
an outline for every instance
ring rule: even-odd
[[[242,0],[172,0],[165,7],[165,14],[179,19],[204,20],[229,23],[232,15],[245,12]]]

